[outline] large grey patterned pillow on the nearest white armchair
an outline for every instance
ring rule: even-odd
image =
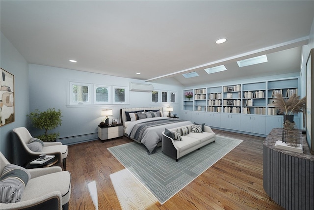
[[[20,202],[30,178],[31,176],[25,168],[13,164],[6,165],[0,177],[0,203]]]

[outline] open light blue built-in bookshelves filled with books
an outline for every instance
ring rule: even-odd
[[[278,115],[274,107],[276,93],[285,98],[298,94],[298,78],[243,83],[230,86],[188,89],[190,100],[184,97],[183,110],[234,114]]]

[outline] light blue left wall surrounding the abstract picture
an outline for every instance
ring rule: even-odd
[[[10,161],[15,162],[19,152],[16,136],[12,129],[27,127],[26,115],[29,111],[28,64],[9,40],[0,34],[0,67],[14,75],[15,121],[0,127],[0,151]]]

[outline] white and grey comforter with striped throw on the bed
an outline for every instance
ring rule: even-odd
[[[142,143],[152,154],[157,149],[157,143],[161,141],[161,133],[165,128],[175,128],[192,124],[190,121],[172,119],[167,117],[146,118],[132,121],[126,128],[125,134],[132,140]]]

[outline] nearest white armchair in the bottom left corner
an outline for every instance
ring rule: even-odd
[[[14,172],[10,170],[9,173],[11,174],[8,177],[8,172],[3,173],[6,166],[20,167],[10,164],[0,152],[0,201],[19,201],[14,203],[0,202],[1,210],[68,210],[71,195],[70,172],[62,171],[59,166],[37,169],[20,167],[17,169],[29,174],[29,180],[26,181],[24,187],[23,184],[16,183],[17,180],[21,180],[16,179],[16,176],[21,176],[21,173],[12,175]],[[16,190],[17,187],[20,187],[19,190]]]

